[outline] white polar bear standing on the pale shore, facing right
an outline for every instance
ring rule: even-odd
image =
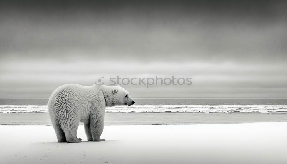
[[[51,94],[48,111],[58,142],[81,142],[77,138],[80,122],[84,123],[88,141],[104,141],[100,136],[106,107],[134,103],[120,86],[66,84]]]

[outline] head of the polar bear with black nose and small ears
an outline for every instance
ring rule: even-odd
[[[133,105],[135,102],[129,96],[129,92],[120,86],[114,86],[113,105]]]

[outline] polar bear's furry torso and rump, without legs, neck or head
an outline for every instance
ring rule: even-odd
[[[90,111],[96,108],[100,93],[92,87],[66,84],[58,87],[49,98],[48,110],[59,122],[87,122]]]

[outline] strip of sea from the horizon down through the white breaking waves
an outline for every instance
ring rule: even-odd
[[[199,112],[287,114],[287,99],[134,99],[135,105],[106,112]],[[0,113],[46,113],[48,99],[0,99]]]

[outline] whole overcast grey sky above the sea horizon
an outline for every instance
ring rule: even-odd
[[[110,77],[132,97],[287,97],[286,1],[0,1],[0,98]]]

